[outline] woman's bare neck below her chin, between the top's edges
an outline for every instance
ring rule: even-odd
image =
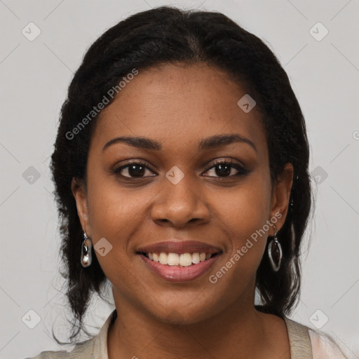
[[[201,323],[175,325],[140,311],[114,292],[117,318],[109,328],[109,359],[261,358],[268,337],[254,294],[252,288],[247,298],[238,298]]]

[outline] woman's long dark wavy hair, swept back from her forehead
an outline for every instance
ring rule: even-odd
[[[89,300],[95,292],[101,297],[107,281],[95,255],[91,266],[81,266],[83,231],[71,190],[73,177],[86,183],[88,149],[98,115],[73,138],[69,133],[134,68],[140,71],[178,62],[202,62],[222,69],[255,98],[266,132],[272,184],[285,163],[292,163],[290,208],[278,232],[283,261],[280,270],[274,272],[264,255],[256,279],[262,304],[256,308],[283,318],[299,299],[301,243],[313,199],[306,125],[288,76],[261,39],[222,13],[161,6],[118,22],[92,44],[62,105],[50,170],[60,219],[61,274],[66,278],[66,297],[73,318],[69,343],[53,334],[59,344],[75,344],[79,332],[86,332],[83,317]]]

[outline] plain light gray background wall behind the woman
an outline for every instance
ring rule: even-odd
[[[62,340],[69,331],[48,164],[72,74],[105,29],[163,4],[229,15],[263,39],[290,76],[306,118],[317,198],[292,318],[320,327],[359,358],[358,0],[0,0],[0,358],[60,350],[52,325]],[[33,41],[29,22],[41,31]],[[91,309],[88,330],[96,334],[114,306],[94,297]]]

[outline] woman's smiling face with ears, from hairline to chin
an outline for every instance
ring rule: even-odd
[[[264,128],[256,107],[238,106],[243,95],[219,69],[165,65],[140,70],[102,110],[87,191],[73,185],[73,192],[118,311],[127,305],[196,323],[253,306],[267,236],[287,212],[292,167],[272,193]],[[172,253],[172,265],[166,255],[158,264],[141,254],[147,250]],[[185,252],[198,252],[199,264],[175,265],[198,262]],[[217,255],[203,261],[202,252]]]

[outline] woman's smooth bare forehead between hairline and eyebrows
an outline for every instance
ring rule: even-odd
[[[205,64],[138,71],[102,110],[93,134],[95,146],[121,135],[193,146],[203,137],[238,133],[266,151],[262,115],[256,107],[245,112],[238,106],[246,90],[226,72]]]

